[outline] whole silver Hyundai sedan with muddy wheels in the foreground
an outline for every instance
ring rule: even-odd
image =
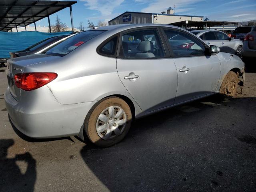
[[[6,73],[6,108],[20,132],[85,135],[106,147],[120,142],[135,118],[218,92],[234,96],[244,63],[182,28],[122,24],[10,59]]]

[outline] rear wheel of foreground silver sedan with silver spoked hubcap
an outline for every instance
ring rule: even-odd
[[[114,111],[114,115],[110,115],[110,110]],[[118,117],[120,115],[118,112],[123,112],[120,117]],[[100,147],[109,147],[117,144],[126,136],[131,123],[132,112],[129,105],[121,98],[108,97],[97,102],[88,112],[84,129],[93,144]],[[100,132],[103,129],[104,131]]]

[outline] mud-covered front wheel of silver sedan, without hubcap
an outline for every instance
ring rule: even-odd
[[[236,94],[236,90],[238,87],[238,77],[235,72],[229,71],[226,74],[221,86],[219,93],[221,96],[232,98]]]

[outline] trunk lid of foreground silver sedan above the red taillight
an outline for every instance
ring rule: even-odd
[[[20,88],[17,88],[14,83],[14,76],[18,73],[23,73],[26,66],[43,63],[49,60],[58,58],[58,56],[51,56],[45,54],[33,54],[29,56],[23,56],[18,58],[9,59],[7,61],[7,80],[9,90],[15,100],[20,100]]]

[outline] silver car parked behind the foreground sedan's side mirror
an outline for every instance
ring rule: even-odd
[[[195,30],[191,31],[209,45],[216,45],[221,52],[236,54],[242,57],[243,42],[239,39],[229,37],[227,34],[217,30]]]

